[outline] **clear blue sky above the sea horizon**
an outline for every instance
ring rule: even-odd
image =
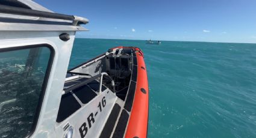
[[[256,43],[256,0],[35,0],[89,19],[76,38]]]

